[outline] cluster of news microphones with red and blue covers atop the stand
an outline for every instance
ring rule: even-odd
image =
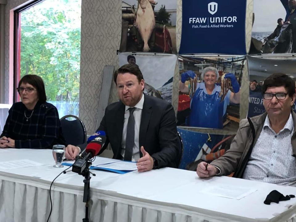
[[[105,134],[104,131],[102,132]],[[104,146],[105,144],[105,141],[105,135],[95,135],[95,137],[90,140],[85,150],[83,151],[84,155],[82,156],[82,158],[76,159],[76,161],[73,163],[72,171],[78,174],[82,174],[85,167],[90,167],[91,162],[89,160],[100,152],[102,146]]]

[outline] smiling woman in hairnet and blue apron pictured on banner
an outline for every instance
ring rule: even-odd
[[[191,84],[185,84],[188,78],[191,79]],[[235,75],[226,73],[222,76],[221,86],[216,84],[218,78],[218,70],[214,67],[203,69],[203,81],[200,83],[194,81],[196,75],[191,70],[181,74],[179,91],[189,93],[191,97],[188,126],[222,129],[229,103],[240,103],[240,85]]]

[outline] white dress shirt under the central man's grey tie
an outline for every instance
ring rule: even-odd
[[[140,133],[140,124],[142,118],[142,109],[144,104],[144,94],[142,94],[142,98],[140,101],[134,106],[136,109],[133,113],[135,117],[135,143],[132,152],[132,161],[137,162],[140,158],[140,147],[139,147],[139,133]],[[130,106],[125,106],[124,113],[124,122],[123,122],[123,131],[122,131],[122,139],[121,139],[121,157],[124,158],[125,153],[125,141],[126,141],[126,130],[127,130],[127,122],[130,117],[130,110],[128,110]]]

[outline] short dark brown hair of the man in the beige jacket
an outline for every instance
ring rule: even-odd
[[[267,88],[278,86],[285,87],[290,97],[295,94],[295,81],[290,76],[284,73],[274,73],[268,76],[267,79],[264,80],[262,86],[262,94],[265,93]]]

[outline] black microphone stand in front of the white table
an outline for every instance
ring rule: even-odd
[[[84,191],[83,191],[83,203],[85,203],[85,218],[82,219],[82,222],[89,222],[88,219],[88,207],[89,207],[89,200],[90,200],[90,179],[92,174],[93,176],[96,176],[92,172],[89,171],[89,167],[92,165],[92,162],[90,161],[90,158],[87,159],[86,167],[81,172],[81,175],[84,176]]]

